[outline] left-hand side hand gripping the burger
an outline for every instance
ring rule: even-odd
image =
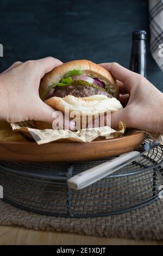
[[[61,64],[52,57],[28,60],[16,62],[0,74],[0,119],[9,123],[26,120],[52,123],[55,110],[40,99],[39,85],[47,72]]]

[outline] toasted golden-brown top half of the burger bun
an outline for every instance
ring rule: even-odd
[[[59,83],[60,80],[67,74],[67,72],[79,68],[83,70],[83,75],[92,75],[103,81],[105,85],[114,92],[113,96],[118,99],[120,93],[115,78],[110,74],[108,70],[104,69],[102,66],[90,62],[90,60],[86,59],[66,62],[53,69],[51,72],[47,73],[41,80],[39,94],[41,95],[53,83]]]

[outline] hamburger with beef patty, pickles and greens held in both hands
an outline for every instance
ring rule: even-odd
[[[46,74],[40,83],[40,97],[49,106],[65,113],[65,108],[98,114],[122,108],[115,78],[102,66],[89,60],[73,60]],[[39,129],[49,128],[37,122]]]

